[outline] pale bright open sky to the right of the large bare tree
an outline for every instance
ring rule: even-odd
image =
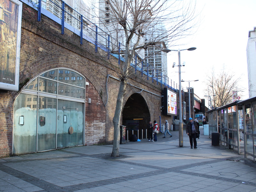
[[[197,0],[197,10],[200,14],[200,25],[196,33],[182,40],[182,46],[169,47],[169,49],[187,49],[197,47],[195,51],[180,52],[183,80],[196,80],[190,82],[194,92],[201,99],[204,97],[205,76],[214,66],[218,72],[225,66],[226,70],[234,73],[236,77],[242,75],[240,86],[245,88],[241,99],[248,98],[248,77],[246,46],[249,30],[256,27],[256,0]],[[178,67],[172,68],[172,63],[178,63],[177,52],[168,53],[168,76],[178,83]],[[174,72],[176,71],[176,72]],[[256,72],[255,72],[256,75]],[[188,82],[182,83],[186,88]]]

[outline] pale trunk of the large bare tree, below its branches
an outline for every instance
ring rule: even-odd
[[[116,110],[113,118],[114,124],[114,140],[113,140],[113,149],[112,157],[119,157],[119,144],[120,144],[120,118],[123,109],[123,100],[125,92],[126,80],[121,79],[119,84],[118,96],[116,99]]]

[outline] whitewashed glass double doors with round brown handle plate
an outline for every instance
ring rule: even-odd
[[[84,104],[58,100],[57,148],[83,145]]]

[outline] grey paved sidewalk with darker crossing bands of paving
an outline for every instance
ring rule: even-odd
[[[200,130],[201,131],[201,130]],[[232,150],[211,146],[201,135],[191,149],[184,132],[157,142],[81,146],[0,159],[0,191],[248,192],[256,191],[256,163]]]

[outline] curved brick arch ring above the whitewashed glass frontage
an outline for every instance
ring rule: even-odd
[[[89,62],[88,60],[86,61]],[[70,68],[81,73],[88,81],[90,81],[90,83],[93,82],[93,86],[95,87],[97,92],[100,92],[100,83],[95,78],[95,76],[91,74],[90,68],[84,65],[82,61],[76,60],[75,58],[66,55],[51,55],[48,57],[43,57],[39,60],[32,62],[31,65],[27,65],[25,68],[20,70],[20,83],[28,83],[26,82],[27,79],[31,80],[46,70],[60,67]],[[18,92],[14,92],[13,96],[15,97],[17,95]]]

